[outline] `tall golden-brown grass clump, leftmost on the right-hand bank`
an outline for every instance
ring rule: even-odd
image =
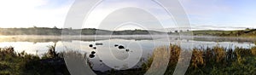
[[[173,72],[173,67],[176,66],[181,51],[182,49],[179,46],[173,44],[170,44],[168,47],[160,46],[155,48],[153,55],[149,56],[148,61],[143,63],[143,71],[148,71],[148,74],[159,74],[157,72],[163,72],[161,69],[164,69],[165,66],[168,66],[166,67],[167,71]]]

